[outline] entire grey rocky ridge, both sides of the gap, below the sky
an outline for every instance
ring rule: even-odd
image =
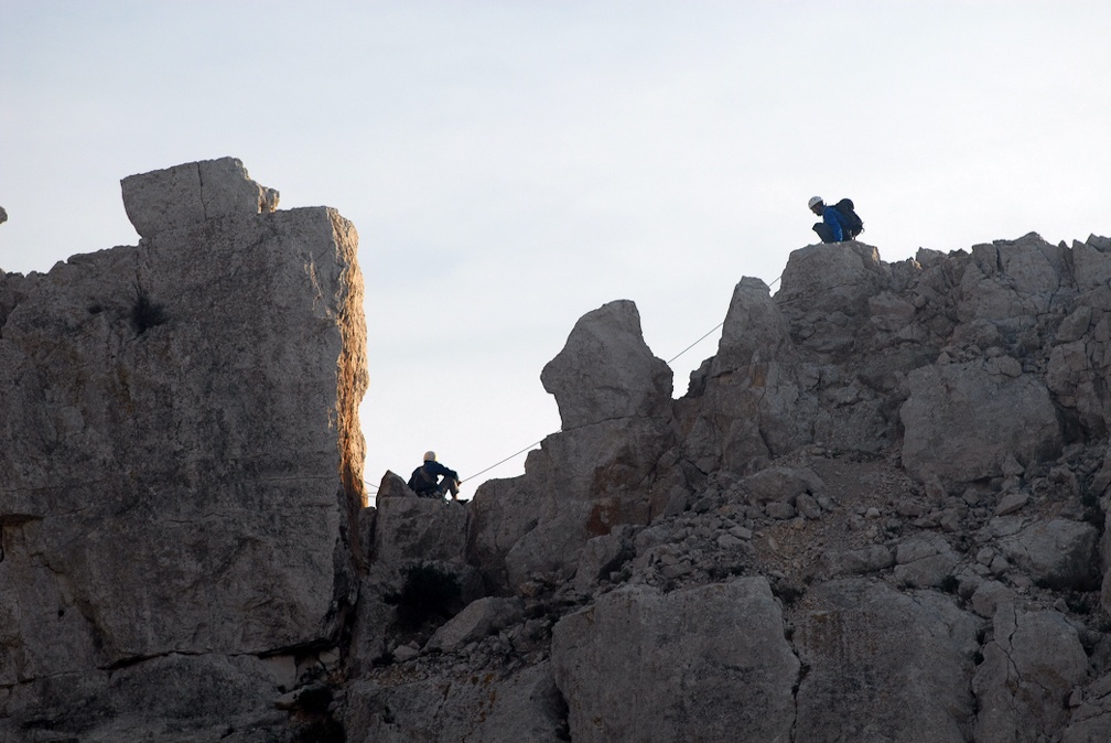
[[[366,508],[351,224],[123,197],[0,273],[0,740],[1111,740],[1111,240],[802,248],[678,399],[611,302],[523,475]]]

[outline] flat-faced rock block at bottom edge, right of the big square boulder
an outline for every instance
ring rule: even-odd
[[[938,594],[859,579],[820,585],[795,634],[809,669],[795,740],[965,741],[977,627]]]

